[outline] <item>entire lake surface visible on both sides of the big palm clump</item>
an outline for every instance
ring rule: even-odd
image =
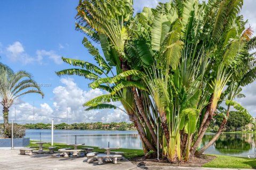
[[[30,140],[40,140],[51,142],[51,130],[34,130],[26,131],[26,137]],[[142,149],[141,140],[137,131],[89,131],[89,130],[54,130],[54,142],[58,143],[85,143],[87,146],[106,147],[108,142],[110,146],[120,148]],[[213,133],[207,133],[202,141],[202,146],[210,141]],[[254,149],[251,143],[256,143],[256,134],[221,134],[219,139],[205,154],[219,154],[230,156],[247,157],[254,155]]]

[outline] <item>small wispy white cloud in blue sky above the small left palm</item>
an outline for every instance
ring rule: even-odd
[[[30,56],[26,53],[25,48],[19,41],[16,41],[13,44],[6,47],[6,56],[12,62],[20,62],[24,65],[31,63],[42,64],[42,61],[45,58],[48,60],[52,60],[55,64],[62,64],[61,56],[56,54],[53,50],[37,50],[36,56]]]

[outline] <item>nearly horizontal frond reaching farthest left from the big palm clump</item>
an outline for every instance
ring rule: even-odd
[[[82,76],[82,77],[85,77],[86,79],[89,79],[89,80],[96,80],[98,79],[98,75],[90,72],[90,71],[87,71],[87,70],[83,70],[83,69],[67,69],[67,70],[62,70],[62,71],[59,71],[59,72],[56,72],[56,74],[58,76],[61,76],[61,75],[78,75],[78,76]]]

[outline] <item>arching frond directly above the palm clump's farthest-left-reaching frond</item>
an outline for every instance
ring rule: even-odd
[[[100,75],[103,74],[103,71],[99,67],[95,66],[94,64],[91,64],[82,60],[76,60],[76,59],[65,58],[65,57],[62,57],[62,60],[70,65],[86,68],[86,70],[94,71],[95,73],[98,73]]]

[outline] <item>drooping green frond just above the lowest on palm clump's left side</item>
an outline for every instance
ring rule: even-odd
[[[95,97],[95,98],[87,101],[83,106],[94,107],[94,106],[98,106],[100,104],[109,103],[111,101],[119,101],[119,97],[113,96],[111,94],[101,95],[101,96]]]

